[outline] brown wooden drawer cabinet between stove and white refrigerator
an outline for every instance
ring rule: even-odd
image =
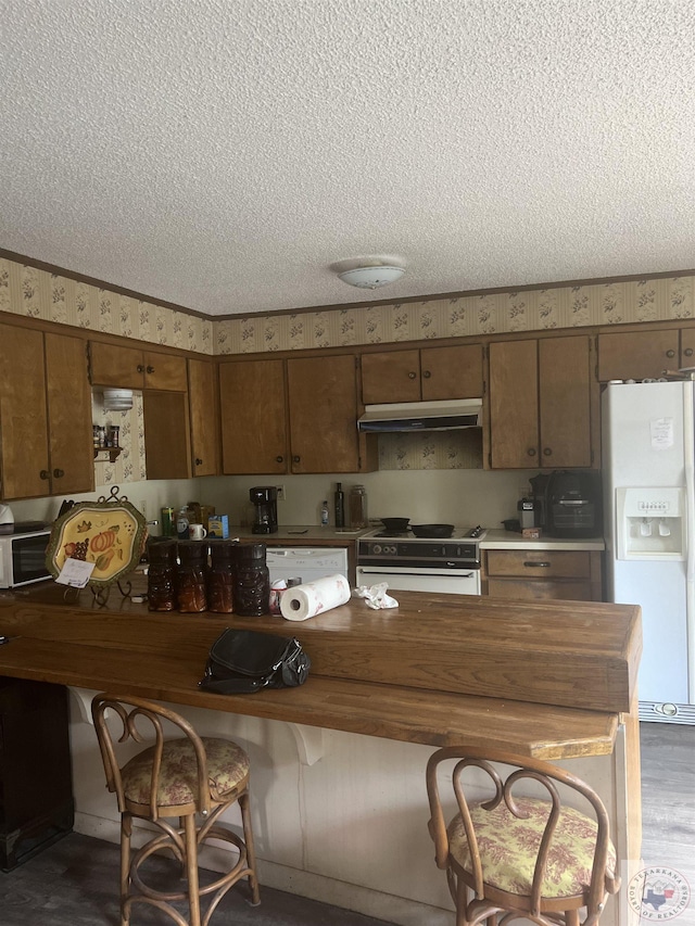
[[[485,550],[488,595],[601,601],[599,550]]]

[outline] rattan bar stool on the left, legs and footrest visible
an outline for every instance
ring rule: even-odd
[[[249,880],[251,903],[260,903],[249,812],[249,757],[244,750],[226,739],[199,737],[182,716],[142,698],[97,695],[91,711],[106,787],[116,792],[121,812],[122,926],[128,926],[135,903],[159,908],[179,926],[187,926],[187,921],[172,905],[181,900],[188,901],[190,926],[206,926],[224,895],[241,878]],[[112,722],[118,727],[114,734],[106,711],[119,718]],[[184,736],[165,739],[163,722],[166,721]],[[130,738],[143,743],[143,730],[153,744],[121,766],[116,759],[118,744]],[[219,816],[236,801],[241,809],[243,839],[219,822]],[[195,814],[201,817],[200,824]],[[134,817],[150,821],[159,833],[131,853]],[[179,825],[173,826],[170,817],[179,817]],[[201,887],[198,851],[208,839],[232,843],[239,857],[228,872]],[[160,890],[144,883],[140,866],[155,852],[170,852],[178,860],[185,889]],[[211,900],[201,918],[201,897],[206,896]]]

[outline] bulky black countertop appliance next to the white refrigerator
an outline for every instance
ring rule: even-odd
[[[602,535],[597,472],[556,470],[545,485],[545,532],[553,537]]]

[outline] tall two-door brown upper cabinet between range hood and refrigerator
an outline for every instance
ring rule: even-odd
[[[591,466],[590,364],[587,337],[490,345],[493,469]]]

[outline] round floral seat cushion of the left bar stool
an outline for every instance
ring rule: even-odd
[[[211,795],[215,798],[231,791],[249,774],[249,757],[228,739],[202,737],[207,754],[207,776]],[[154,747],[135,756],[121,770],[126,799],[134,803],[150,803],[152,758]],[[168,739],[164,743],[162,768],[156,795],[157,807],[176,807],[198,800],[198,765],[190,739]]]

